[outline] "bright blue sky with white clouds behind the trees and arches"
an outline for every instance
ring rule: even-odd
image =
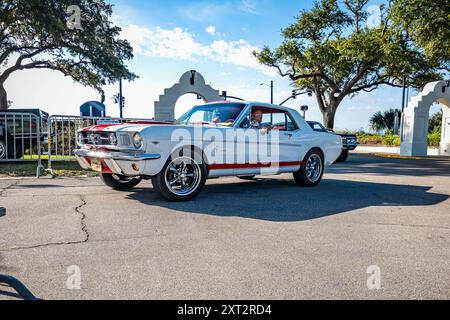
[[[287,78],[259,65],[249,53],[282,41],[280,30],[294,21],[312,1],[230,0],[230,1],[124,1],[111,0],[114,21],[123,28],[135,50],[128,63],[139,75],[125,83],[126,117],[150,118],[153,103],[188,70],[203,74],[207,83],[220,91],[248,100],[268,101],[269,88],[261,82],[275,81],[275,102],[289,96]],[[376,3],[375,1],[373,3]],[[27,90],[23,90],[24,86]],[[14,107],[40,107],[52,114],[78,114],[79,106],[97,100],[98,94],[73,83],[67,77],[44,70],[23,71],[6,83]],[[118,114],[111,97],[117,86],[105,87],[107,112]],[[195,97],[182,97],[176,114],[197,103]],[[307,118],[321,121],[315,98],[301,98],[288,104],[293,108],[308,104]],[[370,116],[378,110],[397,108],[401,90],[381,88],[371,94],[346,99],[338,110],[339,129],[367,128]]]

